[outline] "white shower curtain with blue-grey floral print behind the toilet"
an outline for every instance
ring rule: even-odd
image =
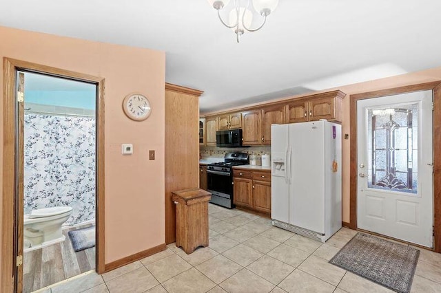
[[[95,219],[95,118],[25,114],[24,212],[72,206],[66,224]]]

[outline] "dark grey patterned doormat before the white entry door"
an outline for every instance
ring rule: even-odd
[[[411,290],[420,250],[358,233],[329,261],[397,292]]]

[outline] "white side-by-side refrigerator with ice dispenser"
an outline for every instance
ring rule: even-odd
[[[325,242],[342,226],[340,124],[271,125],[274,226]]]

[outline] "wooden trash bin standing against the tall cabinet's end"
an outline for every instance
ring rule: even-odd
[[[208,201],[212,194],[199,188],[172,191],[176,206],[176,246],[185,253],[208,246]]]

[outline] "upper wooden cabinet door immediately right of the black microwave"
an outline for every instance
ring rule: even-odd
[[[260,110],[247,111],[243,114],[243,145],[262,144],[262,112]]]

